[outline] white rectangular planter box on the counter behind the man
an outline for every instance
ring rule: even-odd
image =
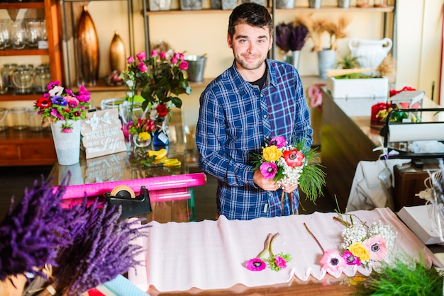
[[[333,98],[387,98],[389,79],[335,79],[327,78],[327,91]]]

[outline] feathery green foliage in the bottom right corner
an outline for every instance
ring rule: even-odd
[[[373,272],[357,284],[354,295],[443,295],[443,277],[435,268],[403,257],[394,258],[392,263],[383,262],[378,273]]]

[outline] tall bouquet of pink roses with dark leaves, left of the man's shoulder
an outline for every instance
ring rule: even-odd
[[[152,50],[151,57],[145,52],[139,52],[134,57],[128,57],[128,70],[123,72],[128,89],[127,97],[134,99],[140,91],[145,99],[143,110],[149,110],[150,118],[156,120],[172,115],[172,108],[182,107],[182,100],[178,97],[182,93],[191,93],[191,87],[182,70],[188,69],[188,62],[184,55],[174,52],[171,56],[167,52]]]

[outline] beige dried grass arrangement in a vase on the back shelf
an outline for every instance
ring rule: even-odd
[[[318,52],[321,50],[336,50],[338,48],[338,40],[347,37],[345,29],[350,24],[351,19],[341,16],[338,23],[327,21],[324,19],[315,19],[312,14],[298,16],[296,24],[305,25],[309,29],[309,38],[313,40],[313,48],[311,51]],[[330,37],[330,44],[323,46],[323,35],[328,34]]]

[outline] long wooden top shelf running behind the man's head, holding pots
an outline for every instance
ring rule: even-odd
[[[271,8],[270,8],[271,9]],[[349,8],[341,8],[338,6],[321,6],[321,8],[309,8],[308,6],[296,6],[295,8],[289,9],[276,9],[276,12],[279,13],[328,13],[328,12],[393,12],[394,6],[385,6],[385,7],[367,7],[360,8],[356,6],[350,6]],[[231,10],[222,10],[222,9],[200,9],[200,10],[180,10],[180,9],[172,9],[168,11],[147,11],[147,16],[160,16],[165,14],[209,14],[209,13],[231,13]]]

